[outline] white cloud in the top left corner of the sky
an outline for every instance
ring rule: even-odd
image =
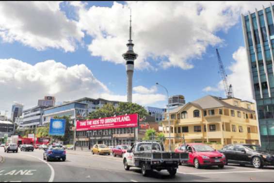
[[[37,50],[74,51],[84,33],[77,22],[66,18],[58,1],[0,2],[0,37]]]

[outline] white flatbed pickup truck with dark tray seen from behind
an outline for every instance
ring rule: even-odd
[[[142,175],[147,176],[154,169],[167,170],[170,176],[177,173],[179,163],[189,159],[187,152],[166,152],[158,142],[136,142],[123,156],[125,170],[130,167],[139,167]]]

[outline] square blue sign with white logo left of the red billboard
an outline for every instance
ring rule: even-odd
[[[49,135],[64,136],[65,119],[50,119]]]

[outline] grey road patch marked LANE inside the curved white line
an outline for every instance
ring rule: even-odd
[[[0,182],[52,181],[50,167],[34,156],[0,152]]]

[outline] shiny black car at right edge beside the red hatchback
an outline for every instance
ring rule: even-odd
[[[226,163],[253,165],[255,168],[274,166],[274,152],[253,144],[231,144],[220,150],[226,155]]]

